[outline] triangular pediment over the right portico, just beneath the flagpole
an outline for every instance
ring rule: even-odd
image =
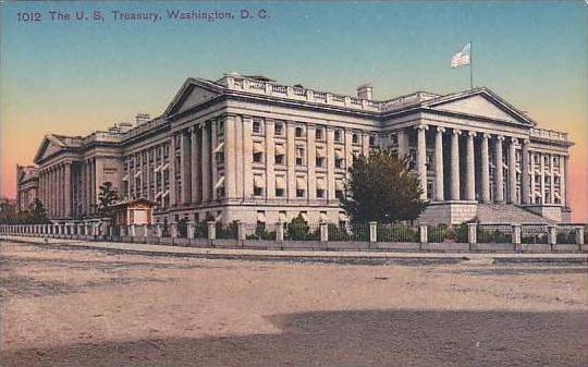
[[[441,100],[434,101],[428,107],[442,112],[455,112],[529,126],[535,125],[532,120],[523,112],[487,90],[458,96],[457,98],[441,98]]]

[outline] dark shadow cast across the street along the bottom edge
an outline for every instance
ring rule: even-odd
[[[270,316],[282,332],[3,352],[3,366],[586,366],[588,313],[353,310]]]

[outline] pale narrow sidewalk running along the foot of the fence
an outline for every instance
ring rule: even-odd
[[[85,242],[76,240],[26,237],[2,235],[0,241],[48,245],[52,248],[106,249],[121,253],[151,254],[166,256],[189,256],[203,258],[246,259],[246,260],[298,260],[328,262],[387,262],[394,260],[437,260],[460,262],[469,260],[480,264],[499,262],[575,262],[588,264],[588,254],[500,254],[500,253],[393,253],[393,252],[348,252],[348,250],[271,250],[247,248],[182,247],[119,242]]]

